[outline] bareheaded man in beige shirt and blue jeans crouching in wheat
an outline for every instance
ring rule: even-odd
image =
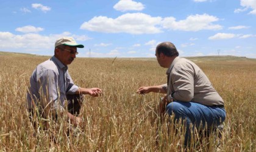
[[[158,64],[168,68],[167,83],[159,86],[143,86],[139,94],[160,92],[166,94],[160,102],[160,111],[174,114],[174,121],[184,120],[185,145],[190,143],[190,124],[199,128],[218,126],[224,122],[224,101],[213,88],[204,72],[193,62],[179,57],[174,44],[164,42],[155,50]]]

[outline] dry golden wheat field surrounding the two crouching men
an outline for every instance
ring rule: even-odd
[[[157,128],[158,119],[153,119],[162,94],[136,94],[140,86],[165,83],[166,69],[155,59],[76,58],[69,66],[74,82],[102,88],[104,95],[85,97],[83,127],[66,136],[64,119],[47,120],[48,130],[35,129],[24,107],[29,77],[49,57],[1,53],[0,58],[0,151],[184,151],[182,131],[174,133],[168,120]],[[256,60],[188,59],[212,81],[227,111],[219,144],[212,135],[201,142],[194,139],[189,150],[256,151]]]

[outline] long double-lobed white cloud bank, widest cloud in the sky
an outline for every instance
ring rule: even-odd
[[[199,30],[220,30],[222,26],[213,24],[219,21],[216,16],[207,14],[190,15],[184,20],[176,21],[170,16],[162,18],[152,17],[144,13],[126,13],[118,18],[106,16],[95,16],[84,22],[80,29],[104,33],[131,33],[131,34],[153,34],[161,33],[162,29],[199,31]]]

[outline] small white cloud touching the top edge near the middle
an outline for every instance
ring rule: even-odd
[[[132,0],[121,0],[113,7],[115,10],[126,12],[128,10],[143,10],[144,5],[141,2],[135,2]]]

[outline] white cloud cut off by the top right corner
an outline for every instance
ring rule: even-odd
[[[244,12],[248,9],[252,9],[249,14],[256,15],[256,0],[240,0],[240,5],[243,7],[243,9],[236,9],[234,12]]]

